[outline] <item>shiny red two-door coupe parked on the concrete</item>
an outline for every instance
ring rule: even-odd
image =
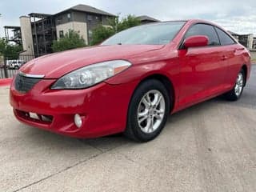
[[[146,142],[169,114],[220,94],[237,100],[249,75],[250,53],[222,27],[157,22],[27,62],[10,104],[19,121],[58,134]]]

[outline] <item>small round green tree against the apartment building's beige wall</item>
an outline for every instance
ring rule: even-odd
[[[86,46],[85,40],[74,30],[69,30],[63,38],[59,38],[53,42],[52,49],[54,52],[58,52],[83,46]]]

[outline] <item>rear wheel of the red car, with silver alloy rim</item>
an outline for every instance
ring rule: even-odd
[[[237,101],[241,98],[242,91],[244,86],[246,85],[246,75],[244,70],[240,70],[234,84],[234,88],[224,94],[227,100],[229,101]]]

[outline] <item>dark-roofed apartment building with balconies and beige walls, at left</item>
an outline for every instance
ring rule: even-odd
[[[92,30],[99,24],[107,25],[114,14],[98,10],[92,6],[77,5],[57,14],[31,13],[20,17],[22,54],[40,56],[52,52],[54,40],[62,38],[69,30],[77,31],[90,43]]]

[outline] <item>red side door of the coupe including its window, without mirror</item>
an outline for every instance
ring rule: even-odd
[[[178,105],[190,106],[210,98],[223,90],[226,75],[225,50],[220,46],[214,26],[198,23],[190,26],[185,38],[206,35],[208,46],[181,48],[178,50],[180,64],[180,90]]]

